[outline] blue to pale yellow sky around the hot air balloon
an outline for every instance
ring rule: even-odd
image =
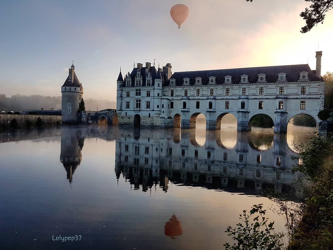
[[[0,8],[0,93],[60,96],[74,60],[84,97],[116,100],[120,66],[171,63],[172,72],[309,63],[333,71],[333,10],[306,34],[303,0],[5,1]]]

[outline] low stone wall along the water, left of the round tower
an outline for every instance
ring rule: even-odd
[[[0,115],[0,129],[10,128],[11,121],[17,121],[17,128],[35,127],[38,118],[42,120],[43,127],[60,125],[62,121],[61,115],[14,115],[14,114],[1,114]],[[12,122],[13,125],[13,122]]]

